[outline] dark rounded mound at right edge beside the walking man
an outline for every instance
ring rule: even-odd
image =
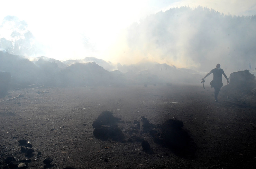
[[[233,72],[229,77],[229,84],[221,89],[220,95],[230,99],[247,103],[256,103],[256,78],[249,70]]]

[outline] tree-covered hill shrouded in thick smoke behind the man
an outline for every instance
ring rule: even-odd
[[[132,24],[123,43],[119,42],[117,59],[129,63],[147,58],[199,72],[209,72],[220,63],[227,74],[250,69],[250,63],[253,71],[255,27],[256,15],[224,15],[203,7],[172,8]]]

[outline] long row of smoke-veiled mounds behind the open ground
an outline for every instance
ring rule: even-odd
[[[26,88],[30,84],[50,87],[198,84],[202,78],[202,75],[189,69],[177,69],[175,66],[155,62],[144,61],[123,66],[119,64],[117,68],[125,73],[120,70],[108,71],[96,62],[82,63],[90,59],[97,60],[73,60],[72,64],[66,65],[47,57],[29,61],[23,56],[0,51],[0,71],[11,73],[10,88]],[[98,59],[98,62],[110,65],[101,59]]]

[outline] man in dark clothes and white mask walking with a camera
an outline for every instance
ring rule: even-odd
[[[214,98],[215,98],[215,102],[217,102],[220,88],[223,86],[222,74],[227,79],[227,83],[229,83],[229,82],[228,82],[228,78],[227,78],[226,74],[224,73],[223,69],[220,69],[219,63],[216,65],[216,68],[212,69],[209,73],[207,73],[204,78],[209,76],[211,73],[213,73],[213,80],[211,81],[210,84],[211,84],[211,87],[214,87]],[[202,78],[203,81],[204,81],[204,78]]]

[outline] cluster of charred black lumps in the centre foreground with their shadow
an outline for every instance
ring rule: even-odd
[[[150,144],[145,136],[153,138],[154,143],[169,148],[177,156],[187,159],[194,159],[196,144],[183,129],[183,122],[177,119],[168,119],[162,125],[153,125],[144,116],[134,123],[126,123],[126,135],[118,127],[121,118],[114,117],[110,111],[103,111],[92,123],[93,135],[102,141],[114,140],[121,142],[140,142],[142,150],[153,153]],[[124,122],[122,122],[124,123]],[[127,126],[129,126],[127,128]],[[124,127],[121,127],[124,129]]]

